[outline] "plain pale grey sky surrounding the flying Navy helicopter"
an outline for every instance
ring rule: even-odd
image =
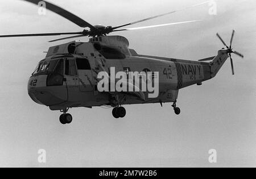
[[[50,1],[91,24],[116,26],[203,2],[162,0]],[[236,76],[226,63],[203,86],[180,90],[176,116],[170,104],[126,106],[123,119],[113,119],[112,109],[72,109],[73,122],[63,126],[59,111],[37,105],[27,94],[27,81],[55,37],[0,39],[1,120],[0,166],[256,166],[255,48],[256,2],[217,2],[216,16],[209,6],[183,11],[138,25],[187,20],[149,30],[118,32],[130,47],[143,55],[198,60],[217,55],[223,47],[220,32],[234,49]],[[80,27],[47,11],[18,0],[1,1],[0,34],[81,31]],[[115,35],[115,34],[113,34]],[[81,40],[88,40],[82,38]],[[38,163],[38,150],[46,149],[47,163]],[[208,163],[209,149],[216,149],[217,164]]]

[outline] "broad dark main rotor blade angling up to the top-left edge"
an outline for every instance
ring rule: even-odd
[[[23,1],[31,2],[31,3],[34,3],[35,5],[39,5],[39,2],[45,2],[46,9],[52,11],[53,13],[63,16],[63,18],[70,20],[71,22],[77,24],[80,27],[83,27],[83,28],[89,27],[91,30],[97,30],[97,28],[93,27],[91,24],[79,18],[75,14],[69,13],[69,11],[64,10],[63,8],[53,5],[52,3],[49,3],[47,1],[42,1],[42,0],[23,0]]]

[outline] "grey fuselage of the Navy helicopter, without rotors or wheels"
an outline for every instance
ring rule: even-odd
[[[225,51],[222,53],[219,55],[224,63],[227,57]],[[122,98],[122,105],[176,102],[179,89],[201,85],[216,75],[211,65],[214,67],[199,61],[138,55],[129,49],[126,38],[102,36],[89,42],[73,41],[49,48],[46,59],[40,61],[30,77],[28,94],[51,110],[114,107],[120,102],[118,98]],[[148,92],[141,92],[143,99],[131,93],[99,92],[97,74],[102,71],[110,74],[113,67],[115,72],[158,72],[158,97],[148,98]]]

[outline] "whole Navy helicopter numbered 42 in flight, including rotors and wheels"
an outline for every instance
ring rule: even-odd
[[[23,0],[38,5],[40,0]],[[46,9],[57,13],[84,29],[81,32],[65,32],[51,34],[20,34],[2,35],[0,38],[27,37],[27,36],[56,36],[76,35],[68,38],[61,38],[52,41],[71,39],[89,36],[89,41],[71,41],[69,43],[50,47],[46,57],[41,60],[34,73],[28,81],[28,94],[31,99],[40,105],[48,106],[51,110],[60,110],[60,122],[69,124],[72,122],[72,115],[68,110],[73,107],[113,107],[114,118],[123,118],[126,110],[123,105],[147,104],[147,103],[173,103],[175,114],[180,114],[180,108],[176,106],[180,89],[191,85],[202,85],[204,81],[215,77],[225,61],[230,58],[232,74],[234,66],[232,53],[243,58],[241,53],[233,51],[232,42],[235,31],[233,30],[230,46],[226,45],[221,36],[218,38],[225,45],[218,51],[217,56],[208,57],[199,61],[179,60],[166,57],[139,55],[134,49],[129,48],[129,41],[123,36],[109,36],[108,34],[117,31],[138,30],[143,28],[171,26],[175,24],[193,23],[195,21],[160,24],[156,26],[122,28],[144,22],[146,20],[159,18],[160,16],[176,13],[178,11],[191,9],[203,5],[200,3],[185,9],[171,11],[157,16],[152,16],[133,23],[121,26],[92,26],[90,23],[69,13],[59,6],[43,1]],[[122,28],[122,29],[120,29]],[[51,41],[51,42],[52,42]],[[106,72],[110,74],[111,68],[116,72],[125,72],[129,78],[130,72],[158,72],[158,95],[155,98],[148,98],[148,91],[142,91],[127,82],[127,86],[134,91],[99,91],[98,74]],[[151,82],[155,80],[151,76]],[[148,79],[146,78],[146,83]]]

